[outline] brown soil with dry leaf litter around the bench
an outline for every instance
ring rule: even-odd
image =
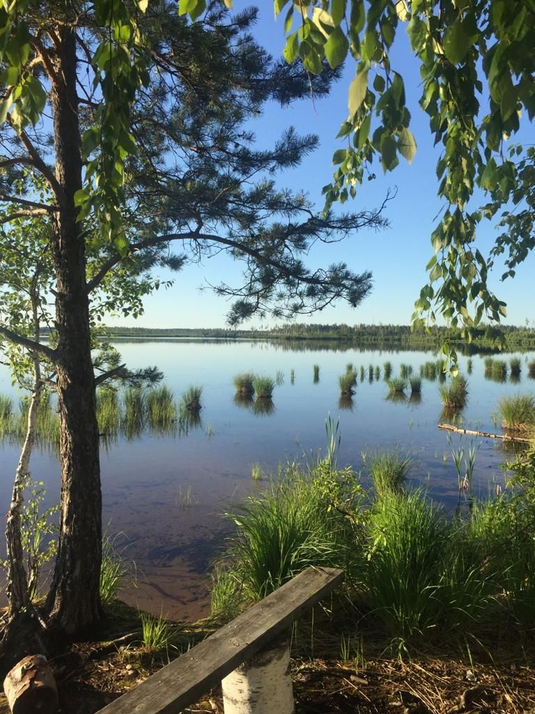
[[[208,635],[184,628],[190,644]],[[137,642],[136,642],[137,638]],[[71,645],[51,657],[61,713],[93,714],[178,655],[153,655],[138,635]],[[292,660],[298,714],[521,714],[535,712],[534,663],[508,655],[471,663],[448,657],[402,661],[373,658],[355,666],[340,660]],[[4,695],[0,714],[9,712]],[[219,689],[185,710],[223,713]]]

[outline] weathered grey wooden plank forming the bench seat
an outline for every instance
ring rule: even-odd
[[[98,714],[178,714],[261,650],[342,582],[336,568],[307,568]]]

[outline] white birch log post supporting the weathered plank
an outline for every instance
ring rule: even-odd
[[[294,714],[290,647],[277,643],[225,677],[225,714]]]

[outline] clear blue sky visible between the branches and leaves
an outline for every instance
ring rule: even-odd
[[[236,10],[249,5],[243,0],[235,0]],[[272,0],[262,0],[259,5],[260,18],[255,35],[274,56],[279,56],[284,46],[282,16],[277,22],[274,21]],[[435,165],[438,154],[432,146],[427,115],[418,106],[419,70],[409,54],[402,28],[399,34],[401,41],[396,42],[392,67],[404,76],[407,106],[412,113],[411,129],[417,140],[417,154],[412,165],[400,159],[397,169],[387,175],[377,166],[376,180],[366,181],[365,185],[357,187],[355,200],[345,204],[349,211],[374,208],[382,203],[389,188],[397,188],[397,196],[386,209],[391,226],[380,233],[362,231],[336,245],[316,246],[308,258],[310,266],[343,260],[355,271],[370,270],[373,273],[374,289],[356,309],[339,303],[335,308],[328,308],[312,318],[297,320],[408,324],[414,300],[426,283],[424,268],[432,256],[429,236],[436,223],[435,216],[442,208],[436,196]],[[350,58],[344,76],[333,86],[327,99],[310,98],[286,109],[273,103],[252,124],[260,146],[272,144],[288,126],[295,126],[303,134],[314,133],[320,136],[320,148],[305,158],[297,169],[285,171],[279,178],[281,186],[305,189],[318,210],[322,208],[321,188],[332,176],[332,154],[343,146],[342,140],[335,139],[335,136],[347,117],[347,87],[354,74],[355,62]],[[481,252],[488,250],[494,236],[495,230],[491,223],[481,224],[478,238]],[[507,323],[521,324],[526,319],[532,323],[535,320],[535,301],[530,282],[533,263],[534,258],[531,256],[519,266],[516,277],[504,283],[499,282],[499,267],[495,270],[492,287],[499,298],[507,303]],[[228,303],[215,296],[209,288],[203,291],[199,288],[206,286],[207,282],[218,283],[223,278],[225,282],[231,283],[233,276],[238,282],[240,265],[225,256],[211,258],[200,266],[189,266],[175,276],[172,288],[161,289],[146,298],[146,310],[142,318],[137,321],[110,318],[108,323],[146,327],[224,326]],[[270,325],[272,321],[267,320],[264,324]],[[260,326],[260,321],[253,318],[249,325]]]

